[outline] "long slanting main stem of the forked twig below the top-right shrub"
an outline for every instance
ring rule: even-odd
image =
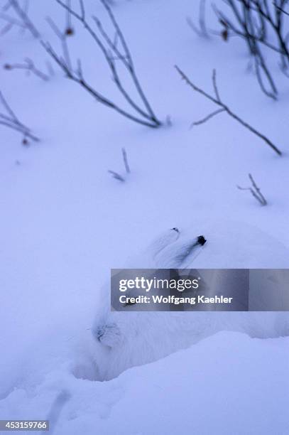
[[[258,136],[260,139],[262,139],[264,142],[266,142],[266,144],[268,146],[271,147],[271,149],[273,149],[279,156],[282,155],[280,149],[277,148],[276,145],[274,145],[266,136],[264,136],[262,133],[260,133],[260,131],[256,130],[255,128],[251,127],[250,124],[248,124],[247,122],[245,122],[243,119],[241,119],[237,114],[235,114],[234,112],[231,111],[231,109],[229,109],[229,107],[227,106],[227,104],[224,104],[221,100],[217,100],[215,97],[212,97],[212,95],[209,95],[207,92],[205,92],[204,90],[200,89],[200,87],[197,87],[188,77],[187,75],[185,75],[185,73],[182,72],[182,70],[180,70],[180,68],[178,68],[177,65],[175,65],[176,70],[178,71],[178,73],[180,74],[180,76],[182,77],[183,80],[185,80],[185,82],[187,83],[187,85],[189,85],[190,87],[192,87],[193,90],[195,90],[196,92],[199,92],[201,95],[203,95],[204,97],[206,97],[208,100],[214,102],[214,104],[217,104],[219,107],[222,107],[222,109],[227,112],[227,114],[229,114],[230,117],[232,117],[233,119],[235,119],[237,122],[239,122],[239,124],[243,125],[244,127],[246,127],[246,129],[248,129],[249,131],[251,131],[251,133],[256,134],[256,136]],[[217,85],[216,85],[217,86]],[[216,114],[216,113],[214,113]],[[212,116],[207,117],[207,119],[210,119]],[[205,121],[203,121],[205,122]],[[202,124],[202,122],[199,122],[200,124]]]

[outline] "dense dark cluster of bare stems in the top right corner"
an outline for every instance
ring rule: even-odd
[[[219,34],[224,41],[229,41],[232,36],[244,39],[253,57],[258,84],[274,100],[278,90],[262,48],[278,53],[280,68],[289,75],[288,28],[285,26],[285,18],[289,14],[284,9],[288,1],[277,0],[271,4],[268,0],[223,0],[229,8],[228,14],[213,5],[221,30],[210,33]],[[202,36],[203,32],[199,31],[198,34]]]

